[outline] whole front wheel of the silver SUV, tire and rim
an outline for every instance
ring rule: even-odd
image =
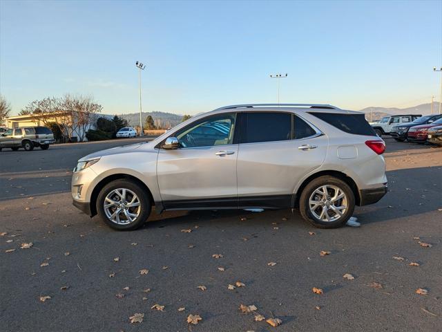
[[[148,194],[135,181],[116,180],[99,192],[97,213],[115,230],[135,230],[148,219],[151,205]]]

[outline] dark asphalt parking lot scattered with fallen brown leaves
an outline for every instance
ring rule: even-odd
[[[385,140],[390,192],[356,208],[361,228],[336,230],[280,210],[115,232],[73,207],[70,177],[81,156],[136,140],[3,149],[1,331],[441,331],[442,148]]]

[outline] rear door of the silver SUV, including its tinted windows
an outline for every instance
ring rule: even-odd
[[[246,112],[240,128],[239,208],[288,208],[301,178],[322,165],[327,137],[292,113]]]

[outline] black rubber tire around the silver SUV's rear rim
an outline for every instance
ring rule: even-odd
[[[323,185],[333,185],[335,187],[338,187],[344,192],[345,196],[347,197],[347,210],[345,210],[345,213],[343,213],[343,215],[335,221],[322,221],[310,212],[310,196],[314,193],[316,189]],[[319,178],[315,178],[309,184],[307,184],[304,190],[302,190],[299,199],[299,210],[302,218],[304,218],[306,221],[309,221],[311,225],[314,225],[317,228],[338,228],[344,225],[347,220],[352,216],[354,212],[354,205],[355,199],[352,188],[350,188],[347,183],[340,180],[339,178],[335,178],[334,176],[320,176]]]

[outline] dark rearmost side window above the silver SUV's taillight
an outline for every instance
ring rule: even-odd
[[[355,135],[376,136],[372,126],[365,120],[364,114],[342,114],[342,113],[310,113],[316,118],[320,118],[332,124],[346,133],[354,133]]]

